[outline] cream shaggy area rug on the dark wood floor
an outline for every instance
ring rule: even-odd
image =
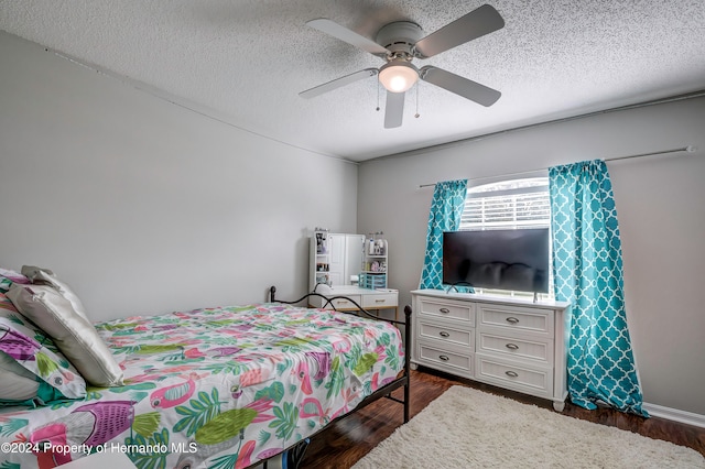
[[[368,468],[705,468],[694,449],[453,386],[360,459]]]

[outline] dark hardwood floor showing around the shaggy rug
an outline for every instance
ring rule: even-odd
[[[475,388],[527,404],[553,408],[552,403],[546,400],[527,396],[426,369],[412,371],[411,381],[411,417],[420,413],[431,401],[453,385]],[[403,397],[401,390],[397,392],[399,392],[399,397]],[[397,395],[397,392],[394,395]],[[664,439],[676,445],[687,446],[705,456],[705,428],[658,417],[642,418],[611,408],[599,407],[595,411],[587,411],[570,402],[566,402],[563,414],[627,429],[650,438]],[[316,435],[311,440],[300,467],[302,469],[349,468],[381,440],[390,436],[402,422],[401,404],[381,399],[338,421]]]

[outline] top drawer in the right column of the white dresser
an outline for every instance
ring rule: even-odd
[[[478,327],[491,326],[521,334],[553,337],[553,309],[519,306],[477,306]]]

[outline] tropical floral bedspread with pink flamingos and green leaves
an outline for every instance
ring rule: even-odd
[[[403,368],[395,327],[332,310],[260,304],[96,327],[126,385],[0,410],[0,468],[106,451],[139,468],[245,468],[352,410]]]

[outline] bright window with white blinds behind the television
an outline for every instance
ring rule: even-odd
[[[550,228],[551,201],[549,178],[503,181],[469,188],[460,218],[460,230],[497,230],[512,228]],[[530,292],[476,288],[477,293],[532,297]],[[550,272],[549,293],[553,298],[553,272]]]

